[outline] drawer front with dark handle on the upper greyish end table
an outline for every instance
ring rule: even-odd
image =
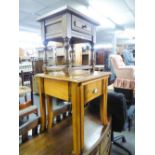
[[[81,33],[92,34],[91,23],[72,15],[72,29]]]

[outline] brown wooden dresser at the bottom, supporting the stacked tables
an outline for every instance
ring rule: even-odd
[[[20,155],[71,155],[73,150],[73,133],[71,117],[55,125],[52,129],[34,137],[28,142],[20,145]],[[92,115],[89,111],[85,117],[85,141],[82,155],[103,155],[107,153],[111,143],[108,136],[111,132],[110,121],[107,126],[103,126],[99,117]],[[109,139],[108,139],[109,138]],[[105,143],[105,140],[107,143]],[[104,149],[101,149],[103,147]],[[103,151],[101,153],[101,151]],[[94,153],[95,152],[95,153]],[[110,154],[108,154],[110,155]]]

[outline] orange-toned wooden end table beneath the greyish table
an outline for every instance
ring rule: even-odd
[[[68,100],[72,104],[72,130],[73,130],[73,153],[75,155],[80,155],[84,150],[85,143],[85,119],[84,119],[84,105],[86,102],[96,98],[97,96],[103,96],[101,100],[101,122],[102,125],[107,125],[107,79],[109,73],[106,72],[94,72],[90,73],[88,71],[75,72],[72,76],[66,76],[62,73],[53,73],[53,74],[38,74],[37,77],[40,79],[44,86],[44,90],[40,90],[41,94],[41,114],[44,117],[41,117],[41,131],[45,130],[46,117],[45,117],[45,101],[43,100],[43,92],[46,96],[50,95],[52,97],[62,98],[62,92],[67,92]],[[46,81],[46,82],[45,82]],[[48,82],[47,82],[48,81]],[[50,83],[51,82],[51,83]],[[59,84],[60,83],[60,84]],[[104,83],[104,85],[103,85]],[[41,84],[40,84],[41,85]],[[103,85],[103,87],[102,87]],[[41,86],[40,86],[41,87]],[[59,89],[61,91],[59,91]],[[96,91],[92,93],[93,91]],[[48,90],[48,91],[47,91]],[[51,91],[52,90],[52,91]],[[51,92],[50,92],[51,91]],[[49,93],[50,92],[50,93]],[[57,94],[55,93],[57,92]],[[58,93],[59,92],[59,93]],[[65,93],[66,93],[65,92]],[[66,99],[63,97],[63,99]],[[47,97],[48,106],[50,107],[49,98]],[[42,109],[42,106],[43,109]],[[52,109],[50,107],[50,109]],[[51,116],[53,115],[52,111],[48,120],[48,124],[51,123]],[[48,129],[51,128],[51,125],[48,125]]]

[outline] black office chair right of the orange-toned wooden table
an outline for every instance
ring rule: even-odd
[[[126,142],[126,139],[123,135],[114,137],[114,131],[122,132],[128,126],[128,119],[132,117],[131,108],[127,108],[126,98],[122,93],[109,92],[108,93],[108,114],[112,116],[112,135],[111,140],[114,145],[121,148],[128,155],[132,155],[132,153],[126,149],[124,146],[119,144],[117,141],[122,140],[122,142]]]

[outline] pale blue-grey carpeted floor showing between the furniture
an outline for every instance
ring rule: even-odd
[[[30,96],[28,96],[30,97]],[[20,101],[22,103],[24,99],[20,98]],[[34,104],[37,105],[40,115],[40,106],[39,106],[39,96],[34,95]],[[126,143],[122,143],[121,141],[118,141],[120,144],[122,144],[124,147],[126,147],[128,150],[132,152],[132,155],[135,155],[135,124],[133,122],[131,131],[123,131],[121,133],[114,133],[114,136],[118,135],[124,135],[126,137]],[[121,150],[120,148],[112,145],[112,152],[111,155],[128,155],[126,152]]]

